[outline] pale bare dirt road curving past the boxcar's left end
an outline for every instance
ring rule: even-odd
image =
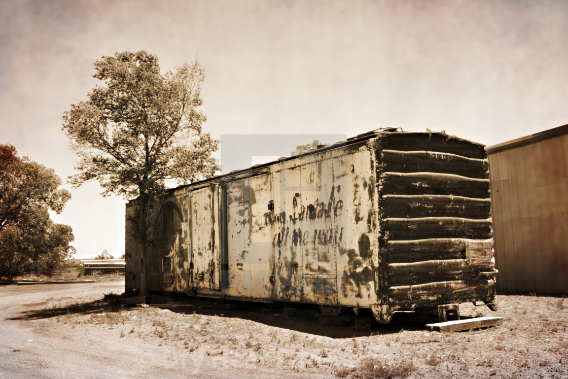
[[[77,329],[69,334],[57,323],[27,318],[53,301],[101,298],[122,293],[124,281],[94,284],[41,284],[0,287],[0,377],[61,378],[138,376],[137,352],[115,353],[112,344]],[[86,338],[83,338],[86,337]],[[134,367],[133,367],[134,366]],[[134,370],[133,370],[134,369]],[[149,374],[149,373],[148,373]]]

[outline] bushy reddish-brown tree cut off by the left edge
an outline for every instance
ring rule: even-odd
[[[70,199],[58,189],[61,179],[12,145],[0,145],[0,277],[24,272],[51,276],[75,248],[70,226],[56,224],[49,210],[60,213]]]

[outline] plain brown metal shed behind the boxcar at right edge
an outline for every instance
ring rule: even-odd
[[[498,290],[568,293],[568,125],[486,149]]]

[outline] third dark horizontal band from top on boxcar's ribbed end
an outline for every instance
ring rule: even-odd
[[[379,193],[458,195],[486,199],[489,197],[489,180],[453,174],[385,172],[379,180]]]

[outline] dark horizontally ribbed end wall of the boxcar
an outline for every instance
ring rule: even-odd
[[[375,316],[446,303],[494,303],[487,153],[440,133],[376,140],[379,289]]]

